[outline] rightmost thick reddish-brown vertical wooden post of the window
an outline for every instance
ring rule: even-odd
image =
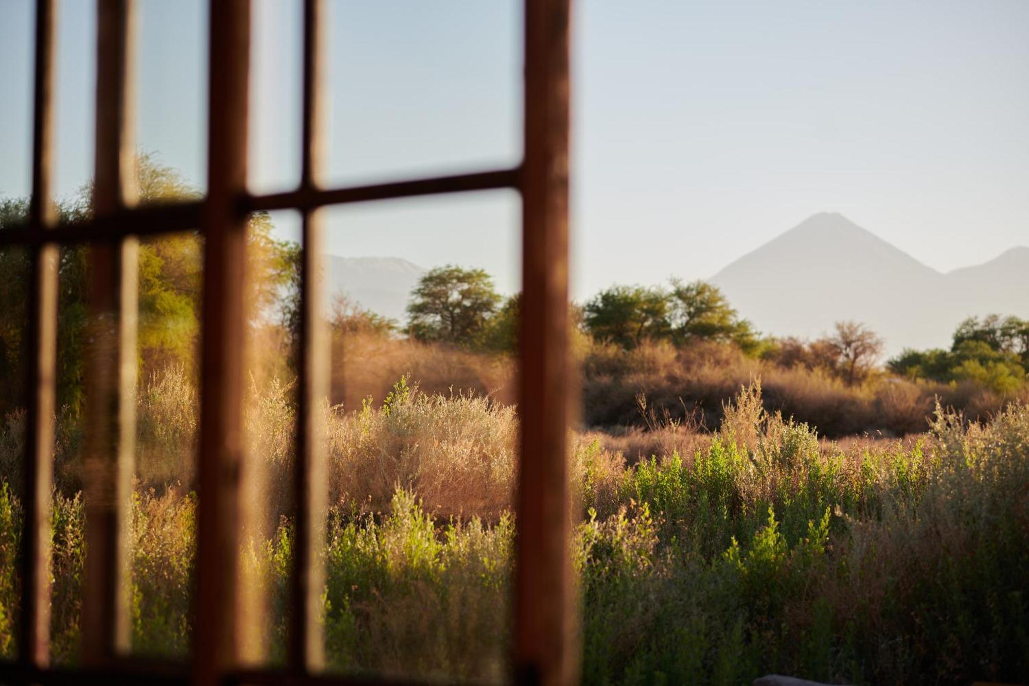
[[[575,681],[567,446],[568,0],[526,0],[523,308],[514,668],[521,683]]]

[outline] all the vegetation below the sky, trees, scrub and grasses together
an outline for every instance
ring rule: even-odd
[[[153,158],[141,200],[197,197]],[[59,207],[86,216],[90,186]],[[0,199],[0,228],[28,199]],[[142,241],[133,651],[183,657],[194,574],[202,242]],[[243,572],[284,660],[293,549],[300,247],[248,220],[251,469]],[[29,254],[0,250],[24,293]],[[79,659],[83,245],[59,265],[51,643]],[[0,312],[0,655],[16,650],[25,299]],[[507,674],[521,300],[483,270],[430,270],[409,321],[331,315],[322,596],[327,668],[497,682]],[[588,684],[856,684],[1029,675],[1029,322],[971,317],[950,349],[856,322],[761,335],[710,284],[614,285],[572,308],[581,412],[569,435],[581,674]],[[528,401],[531,402],[531,399]]]

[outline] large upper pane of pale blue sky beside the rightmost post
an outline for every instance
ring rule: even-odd
[[[328,10],[333,183],[521,161],[521,3],[336,0]]]

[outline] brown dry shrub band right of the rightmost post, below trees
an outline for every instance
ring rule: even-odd
[[[1029,385],[998,392],[972,380],[950,383],[884,372],[848,385],[822,369],[786,367],[748,356],[739,348],[698,342],[675,347],[645,342],[633,349],[595,343],[582,354],[583,418],[588,425],[645,425],[637,399],[673,419],[717,428],[726,399],[752,379],[762,381],[762,405],[823,436],[902,437],[929,425],[936,402],[972,419],[987,419],[1009,403],[1029,402]]]

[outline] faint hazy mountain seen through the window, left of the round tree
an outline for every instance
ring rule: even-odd
[[[425,269],[400,258],[341,258],[328,255],[329,296],[346,295],[365,309],[396,319],[407,319],[411,290]]]

